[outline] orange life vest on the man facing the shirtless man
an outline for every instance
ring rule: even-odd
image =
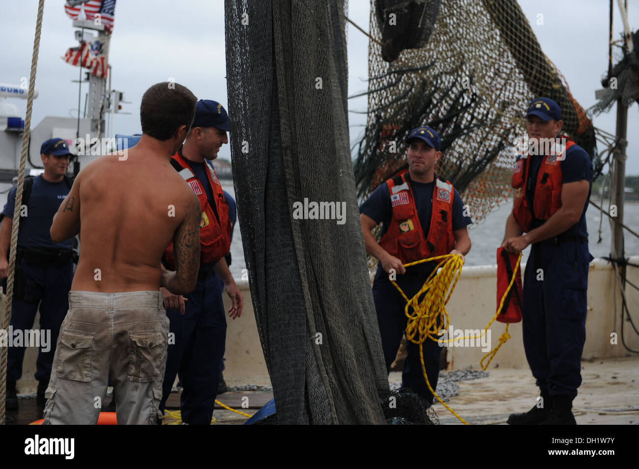
[[[171,158],[171,165],[178,171],[181,177],[189,184],[190,188],[196,193],[202,208],[202,219],[200,221],[200,265],[212,264],[229,251],[231,247],[231,221],[229,220],[229,206],[224,200],[224,192],[222,185],[217,180],[215,171],[208,163],[204,163],[204,167],[208,168],[206,179],[211,184],[213,197],[215,198],[215,206],[212,207],[202,182],[190,168],[189,162],[185,160],[178,151]],[[175,261],[173,257],[173,241],[164,251],[164,258],[169,265],[169,269],[175,269]]]

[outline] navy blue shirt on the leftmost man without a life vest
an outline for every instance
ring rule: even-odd
[[[3,215],[13,218],[15,206],[15,186],[4,205]],[[50,235],[53,216],[65,200],[70,189],[63,179],[49,182],[41,175],[33,178],[33,190],[27,204],[27,216],[20,219],[18,246],[31,249],[73,249],[73,238],[63,242],[53,242]],[[23,202],[24,203],[24,202]]]

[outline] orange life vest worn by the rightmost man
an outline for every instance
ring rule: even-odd
[[[512,206],[512,216],[520,225],[523,232],[529,232],[533,227],[533,220],[548,220],[550,216],[558,211],[561,207],[561,185],[563,175],[561,171],[561,160],[566,158],[566,152],[573,146],[574,141],[560,135],[560,139],[566,139],[566,147],[555,147],[550,154],[544,156],[539,173],[537,174],[537,182],[535,183],[534,201],[531,202],[526,198],[526,190],[528,182],[528,170],[530,169],[530,158],[539,158],[539,156],[528,156],[518,158],[512,169],[512,188],[516,189],[514,204]]]

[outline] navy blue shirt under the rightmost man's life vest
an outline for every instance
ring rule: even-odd
[[[528,176],[532,178],[532,181],[537,181],[537,174],[539,173],[539,167],[541,167],[541,161],[543,156],[528,156],[530,160],[530,170]],[[585,179],[589,182],[588,197],[590,198],[590,191],[592,191],[592,161],[590,156],[585,152],[583,148],[578,145],[573,145],[566,151],[566,158],[560,161],[561,172],[563,175],[563,184],[568,182],[581,181]],[[531,188],[527,191],[528,200],[534,200],[535,184],[530,184]],[[581,217],[577,223],[568,228],[564,234],[569,236],[588,236],[588,228],[586,227],[586,209],[588,208],[588,200],[583,205],[583,211],[581,211]],[[543,225],[543,220],[535,219],[533,221],[533,227],[537,228]]]

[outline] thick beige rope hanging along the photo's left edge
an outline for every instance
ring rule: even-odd
[[[42,16],[44,0],[38,2],[38,17],[36,19],[36,33],[33,38],[33,55],[31,56],[31,75],[29,75],[29,93],[27,94],[27,112],[24,116],[24,131],[22,133],[22,153],[18,169],[18,184],[15,192],[15,207],[13,208],[13,227],[11,231],[11,249],[9,254],[9,276],[6,279],[6,297],[4,299],[4,330],[9,330],[11,321],[11,306],[13,302],[13,277],[15,267],[15,249],[20,224],[20,206],[22,205],[22,186],[24,185],[24,167],[27,161],[29,133],[31,132],[31,111],[33,110],[33,93],[36,84],[36,69],[38,64],[38,50],[40,50],[40,33],[42,31]],[[4,255],[4,253],[3,253]],[[6,404],[6,347],[0,347],[0,425],[4,425]]]

